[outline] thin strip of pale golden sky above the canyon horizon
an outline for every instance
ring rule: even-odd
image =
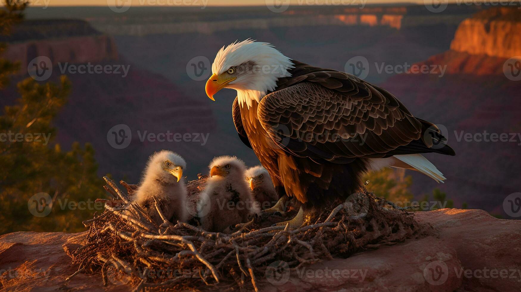
[[[140,6],[141,3],[153,3],[152,5],[161,5],[165,3],[166,5],[172,5],[167,3],[197,3],[203,2],[203,0],[49,0],[49,6],[106,6],[107,1],[131,1],[132,5]],[[263,6],[266,5],[266,1],[288,1],[288,0],[204,0],[207,3],[207,6],[246,6],[246,5],[254,5],[254,6]],[[324,3],[327,4],[357,4],[356,1],[361,0],[289,0],[291,5],[298,5],[299,3]],[[397,3],[397,2],[421,2],[421,0],[366,0],[367,4],[371,3]],[[175,4],[179,5],[179,4]]]

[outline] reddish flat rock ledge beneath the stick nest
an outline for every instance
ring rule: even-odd
[[[407,240],[333,259],[296,271],[257,275],[266,291],[519,291],[521,221],[501,220],[482,210],[418,212],[436,236]],[[109,290],[100,275],[79,274],[67,251],[85,233],[17,232],[0,237],[0,283],[16,291]],[[283,265],[281,265],[283,266]]]

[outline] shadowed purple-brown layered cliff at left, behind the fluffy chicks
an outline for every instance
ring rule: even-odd
[[[187,96],[164,76],[129,62],[120,56],[112,36],[96,31],[88,22],[28,21],[2,40],[9,42],[2,57],[21,66],[11,87],[2,91],[0,108],[19,98],[16,83],[29,77],[31,60],[38,56],[51,59],[52,74],[45,81],[56,82],[65,74],[72,82],[68,102],[54,120],[55,141],[65,149],[74,141],[92,143],[100,175],[112,173],[137,180],[148,155],[172,149],[185,157],[203,157],[200,163],[190,164],[192,172],[187,174],[193,176],[226,149],[224,143],[212,150],[204,148],[208,140],[230,138],[214,135],[215,117],[209,103],[203,102],[206,100]],[[80,65],[109,70],[80,72],[76,70]],[[180,70],[176,74],[186,76],[185,68]],[[116,149],[110,144],[109,130],[121,124],[129,127],[131,142],[125,149]]]

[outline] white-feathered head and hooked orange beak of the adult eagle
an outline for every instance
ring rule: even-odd
[[[251,39],[234,42],[221,47],[215,56],[206,94],[215,101],[217,91],[235,89],[239,104],[251,106],[253,101],[260,102],[268,91],[274,90],[279,78],[290,76],[291,68],[291,59],[270,43]]]

